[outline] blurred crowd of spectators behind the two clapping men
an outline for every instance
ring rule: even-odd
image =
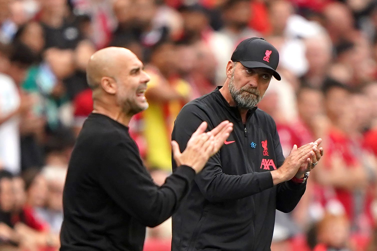
[[[280,53],[282,80],[258,106],[284,154],[319,137],[325,149],[296,209],[277,211],[271,250],[377,251],[375,0],[0,0],[0,250],[58,249],[93,52],[121,46],[144,62],[150,107],[130,133],[162,184],[176,115],[224,83],[249,37]],[[170,250],[171,234],[170,220],[148,228],[144,250]]]

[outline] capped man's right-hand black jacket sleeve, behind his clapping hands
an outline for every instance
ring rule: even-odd
[[[277,165],[280,167],[284,162],[284,155],[282,146],[280,145],[280,138],[279,134],[277,133],[275,123],[274,126],[274,147],[276,161]],[[276,209],[282,211],[283,213],[289,213],[296,207],[296,205],[299,203],[301,199],[301,196],[304,194],[306,189],[306,182],[303,184],[297,184],[289,180],[277,184],[276,189]]]

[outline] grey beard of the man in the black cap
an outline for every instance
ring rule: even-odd
[[[250,93],[255,94],[252,95],[250,93],[246,93],[244,91],[248,91]],[[243,109],[252,109],[259,103],[263,96],[259,93],[259,91],[256,88],[252,89],[245,89],[241,88],[240,90],[237,90],[235,85],[234,85],[234,75],[232,73],[231,78],[229,80],[229,92],[230,95],[232,96],[234,102],[239,108]]]

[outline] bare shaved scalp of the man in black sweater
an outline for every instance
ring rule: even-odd
[[[86,68],[89,87],[92,90],[97,89],[103,77],[116,78],[131,59],[137,59],[136,55],[123,47],[107,47],[95,52]]]

